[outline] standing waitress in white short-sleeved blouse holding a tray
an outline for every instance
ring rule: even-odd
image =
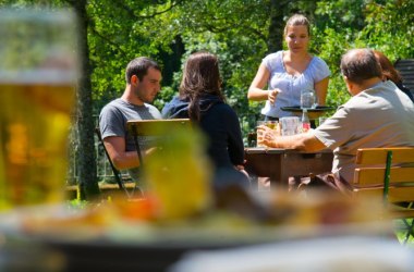
[[[291,16],[284,27],[288,50],[263,59],[248,88],[249,100],[267,100],[261,114],[265,120],[293,115],[282,107],[299,106],[302,89],[314,89],[317,103],[325,104],[330,71],[324,60],[308,52],[309,21],[301,14]],[[268,85],[268,89],[264,89]]]

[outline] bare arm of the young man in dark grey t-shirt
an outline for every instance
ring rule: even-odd
[[[125,151],[125,139],[123,137],[110,136],[104,139],[105,148],[113,165],[118,170],[139,166],[139,159],[136,151]]]

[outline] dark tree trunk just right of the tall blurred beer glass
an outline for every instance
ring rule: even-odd
[[[88,20],[86,4],[87,0],[72,1],[78,18],[78,50],[81,59],[81,78],[77,87],[77,131],[80,138],[77,168],[81,199],[94,199],[99,195],[99,187],[97,183],[94,141],[95,120],[93,116],[92,69],[87,42]]]

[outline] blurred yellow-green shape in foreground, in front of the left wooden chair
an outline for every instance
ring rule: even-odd
[[[159,220],[183,220],[211,206],[211,162],[196,126],[156,127],[157,148],[146,158],[144,174]]]

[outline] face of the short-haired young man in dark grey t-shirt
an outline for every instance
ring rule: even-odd
[[[136,84],[133,84],[134,95],[142,102],[153,102],[161,89],[161,73],[158,70],[149,67],[143,79],[136,78]]]

